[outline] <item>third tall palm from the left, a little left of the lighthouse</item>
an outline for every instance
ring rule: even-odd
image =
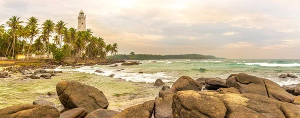
[[[54,26],[55,26],[55,24],[53,23],[52,20],[47,19],[41,25],[42,25],[42,29],[45,31],[45,35],[46,35],[47,40],[48,40],[48,42],[47,42],[47,45],[48,45],[47,48],[48,49],[47,50],[48,50],[48,53],[49,53],[49,42],[50,42],[49,38],[50,38],[51,34],[54,33]]]

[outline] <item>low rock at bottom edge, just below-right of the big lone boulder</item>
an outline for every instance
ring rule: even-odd
[[[84,118],[110,118],[120,112],[114,111],[114,110],[109,110],[109,109],[96,109],[92,111],[91,113],[87,114]]]

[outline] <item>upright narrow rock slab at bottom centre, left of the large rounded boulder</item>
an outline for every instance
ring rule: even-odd
[[[168,94],[163,98],[158,98],[155,100],[154,117],[164,118],[172,117],[172,97],[173,94]]]

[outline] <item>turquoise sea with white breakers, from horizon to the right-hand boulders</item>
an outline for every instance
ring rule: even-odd
[[[156,62],[153,62],[156,61]],[[153,83],[157,78],[164,82],[172,82],[182,75],[193,78],[220,77],[227,78],[231,73],[247,73],[268,78],[280,85],[298,83],[298,78],[278,78],[281,73],[300,75],[300,60],[298,59],[211,59],[211,60],[140,60],[142,64],[130,66],[109,67],[94,65],[83,67],[58,67],[57,70],[80,71],[108,76],[114,74],[116,79],[133,82]],[[120,65],[120,63],[118,63]],[[124,70],[120,70],[124,69]],[[142,71],[143,73],[138,73]]]

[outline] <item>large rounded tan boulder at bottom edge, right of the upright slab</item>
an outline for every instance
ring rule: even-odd
[[[178,91],[172,98],[172,113],[179,117],[225,117],[226,107],[209,92]]]

